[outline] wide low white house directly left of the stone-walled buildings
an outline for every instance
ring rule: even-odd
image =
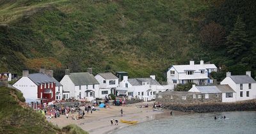
[[[150,101],[156,98],[156,93],[166,91],[166,89],[157,82],[155,75],[150,75],[150,78],[128,78],[124,76],[124,80],[120,82],[120,87],[116,91],[125,91],[129,98],[136,97],[144,101]]]

